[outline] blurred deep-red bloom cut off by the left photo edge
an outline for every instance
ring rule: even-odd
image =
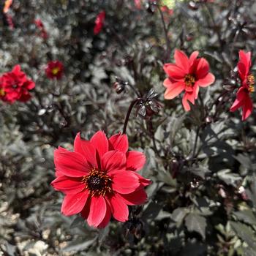
[[[26,77],[16,65],[11,72],[4,73],[0,80],[0,97],[6,102],[26,102],[31,98],[29,91],[34,89],[34,82]]]

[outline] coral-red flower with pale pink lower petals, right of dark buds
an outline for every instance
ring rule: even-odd
[[[195,104],[199,88],[210,86],[214,83],[214,75],[209,72],[208,61],[198,58],[198,52],[194,51],[190,57],[181,50],[175,50],[175,64],[167,63],[164,65],[165,73],[168,78],[164,81],[165,99],[173,99],[185,91],[182,104],[186,111],[190,110],[189,103]]]

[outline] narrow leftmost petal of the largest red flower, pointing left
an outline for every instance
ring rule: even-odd
[[[85,189],[85,184],[80,178],[68,178],[67,176],[59,176],[51,182],[54,189],[64,192],[65,194],[76,194]]]

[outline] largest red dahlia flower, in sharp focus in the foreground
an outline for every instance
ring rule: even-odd
[[[64,215],[80,213],[90,226],[105,227],[111,216],[128,219],[128,206],[145,203],[144,187],[151,183],[137,173],[146,162],[138,151],[128,151],[127,135],[97,132],[91,140],[75,138],[74,151],[54,152],[54,189],[64,192]]]

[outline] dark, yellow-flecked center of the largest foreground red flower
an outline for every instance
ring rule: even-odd
[[[83,177],[86,189],[89,190],[91,196],[105,195],[106,192],[112,192],[111,178],[101,170],[92,169],[88,176]]]

